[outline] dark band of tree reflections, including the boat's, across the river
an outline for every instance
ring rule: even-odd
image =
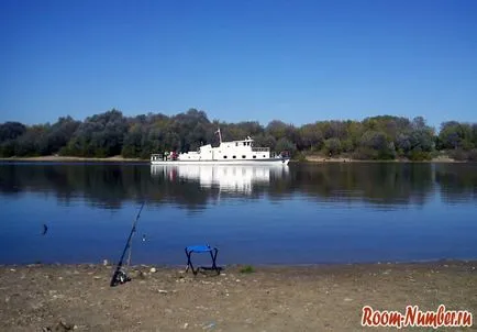
[[[445,203],[476,202],[476,164],[321,164],[266,166],[163,166],[148,164],[0,164],[0,195],[54,196],[119,210],[147,200],[200,210],[221,198],[287,200],[370,207],[423,206],[437,196]]]

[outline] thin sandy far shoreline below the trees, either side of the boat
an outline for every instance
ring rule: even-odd
[[[141,158],[124,158],[122,156],[113,156],[107,158],[92,158],[92,157],[75,157],[75,156],[37,156],[37,157],[9,157],[0,158],[0,162],[57,162],[57,163],[149,163],[149,159]],[[379,161],[379,159],[353,159],[347,157],[323,157],[323,156],[307,156],[304,161],[290,161],[291,163],[310,163],[310,164],[321,164],[321,163],[470,163],[468,161],[455,161],[447,156],[441,156],[437,158],[432,158],[431,161],[409,161],[409,159],[392,159],[392,161]]]

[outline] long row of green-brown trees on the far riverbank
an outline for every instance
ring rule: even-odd
[[[51,124],[0,124],[0,157],[122,155],[149,158],[164,151],[186,152],[201,144],[252,136],[257,146],[307,154],[346,156],[356,159],[431,159],[445,153],[455,159],[477,161],[477,123],[443,122],[439,133],[422,117],[379,115],[363,121],[317,121],[301,126],[273,120],[228,123],[210,121],[203,111],[190,109],[176,115],[148,113],[124,117],[115,109],[78,121],[59,118]]]

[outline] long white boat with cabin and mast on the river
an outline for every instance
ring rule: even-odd
[[[212,147],[207,144],[197,151],[177,154],[152,154],[153,165],[185,165],[185,164],[210,164],[210,165],[288,165],[290,157],[280,153],[270,153],[269,147],[257,147],[249,136],[242,141],[222,142],[220,129],[220,145]]]

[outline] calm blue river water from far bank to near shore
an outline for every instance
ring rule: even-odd
[[[4,163],[0,264],[117,262],[142,201],[136,264],[202,243],[221,264],[477,258],[475,164]]]

